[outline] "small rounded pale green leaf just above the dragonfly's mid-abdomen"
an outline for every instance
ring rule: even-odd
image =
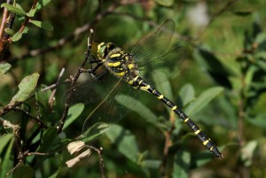
[[[195,90],[192,84],[185,84],[179,91],[179,96],[182,99],[183,106],[192,102],[195,99]]]

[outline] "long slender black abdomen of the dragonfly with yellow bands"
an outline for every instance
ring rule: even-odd
[[[163,103],[167,104],[168,107],[171,108],[173,112],[176,112],[176,114],[179,116],[179,118],[184,120],[184,122],[192,129],[194,134],[199,137],[200,141],[203,143],[203,145],[205,145],[207,147],[207,149],[209,151],[212,151],[215,154],[215,156],[218,157],[219,159],[223,158],[223,155],[217,149],[217,147],[215,146],[215,143],[213,143],[207,137],[207,135],[205,135],[204,132],[201,131],[201,129],[191,119],[189,119],[189,117],[181,109],[179,109],[176,106],[176,104],[171,102],[167,97],[164,97],[163,95],[161,95],[158,90],[153,89],[150,85],[148,85],[144,81],[144,79],[142,79],[139,76],[135,77],[132,80],[132,82],[129,82],[129,84],[132,84],[133,87],[135,87],[137,89],[142,89],[142,90],[145,90],[145,91],[153,94],[153,96],[157,97],[158,99],[160,99],[160,101],[162,101]]]

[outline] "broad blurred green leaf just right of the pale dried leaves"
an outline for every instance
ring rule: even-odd
[[[126,158],[137,162],[139,151],[135,135],[132,135],[129,130],[121,128],[119,125],[113,125],[106,131],[106,136]]]

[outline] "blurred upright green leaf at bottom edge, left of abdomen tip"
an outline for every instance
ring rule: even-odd
[[[191,154],[188,151],[177,151],[174,162],[174,178],[187,178],[191,164]]]

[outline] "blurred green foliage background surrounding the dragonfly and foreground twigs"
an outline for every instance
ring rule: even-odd
[[[64,111],[69,83],[63,81],[81,66],[90,28],[94,41],[112,42],[130,51],[164,20],[173,19],[173,40],[187,52],[182,66],[176,64],[178,73],[156,88],[204,130],[224,158],[216,159],[184,122],[145,92],[140,93],[133,112],[86,144],[103,148],[105,175],[110,178],[266,177],[266,1],[36,2],[16,1],[16,7],[26,15],[4,6],[16,15],[12,32],[4,31],[8,36],[5,41],[2,34],[1,62],[11,64],[11,68],[1,78],[0,102],[5,108],[18,92],[20,81],[29,74],[40,74],[37,91],[59,81],[52,103],[48,104],[48,99],[54,88],[35,93],[39,97],[19,105],[27,113],[40,116],[47,128],[39,128],[25,112],[2,112],[1,119],[20,125],[21,140],[28,143],[21,143],[23,151],[51,154],[23,157],[22,168],[9,176],[101,177],[96,151],[91,150],[90,157],[75,166],[66,166],[66,160],[74,158],[66,151],[66,143],[82,134],[82,124],[95,105],[74,105],[67,127],[59,135],[47,132],[57,126]],[[1,11],[4,19],[4,8]],[[59,77],[63,67],[66,71]],[[41,105],[36,106],[36,101]],[[6,177],[17,165],[16,149],[12,149],[16,141],[12,129],[2,125],[0,172]]]

